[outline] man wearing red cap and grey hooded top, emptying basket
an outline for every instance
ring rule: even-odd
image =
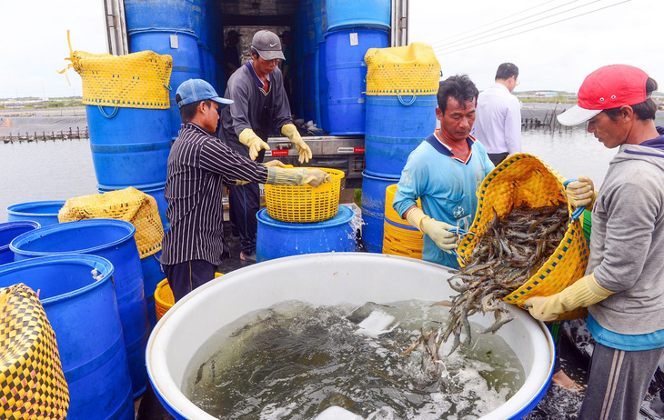
[[[608,148],[619,147],[602,189],[588,177],[568,187],[572,205],[592,208],[586,276],[556,295],[528,299],[551,321],[588,307],[597,341],[579,419],[636,419],[664,355],[664,129],[650,95],[657,82],[639,68],[607,65],[591,73],[562,125],[588,121]]]

